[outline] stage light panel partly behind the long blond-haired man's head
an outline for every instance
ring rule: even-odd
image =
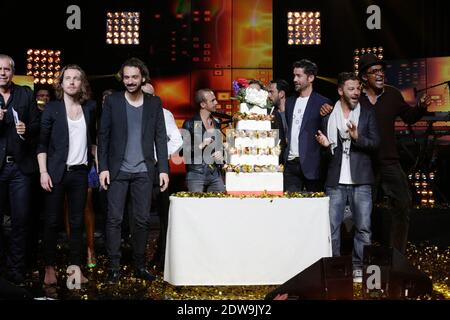
[[[27,50],[27,75],[34,77],[34,83],[53,83],[57,75],[51,70],[61,68],[61,51],[48,49]],[[59,75],[59,73],[58,73]]]

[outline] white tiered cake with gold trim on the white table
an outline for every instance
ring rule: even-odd
[[[225,185],[234,195],[283,194],[279,136],[266,109],[241,103],[236,129],[227,132]]]

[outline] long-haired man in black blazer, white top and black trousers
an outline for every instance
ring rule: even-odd
[[[94,101],[86,74],[78,65],[67,65],[56,82],[56,97],[44,108],[38,146],[40,181],[46,192],[44,260],[45,285],[56,285],[58,223],[67,196],[71,265],[82,265],[83,217],[88,192],[88,169],[96,148]],[[81,281],[87,282],[81,274]]]

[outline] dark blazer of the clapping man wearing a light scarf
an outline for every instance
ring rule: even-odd
[[[326,132],[329,116],[324,119],[324,134]],[[339,135],[338,135],[339,137]],[[372,157],[380,144],[380,135],[375,118],[374,108],[361,105],[361,113],[358,122],[358,140],[352,139],[350,147],[350,171],[352,180],[355,184],[373,184],[374,174],[372,167]],[[328,150],[330,150],[328,148]],[[331,155],[328,165],[327,180],[325,185],[335,187],[339,184],[342,164],[342,142],[338,139],[338,145],[334,149],[334,155]]]

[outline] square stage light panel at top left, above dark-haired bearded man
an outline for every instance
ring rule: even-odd
[[[106,44],[139,44],[139,21],[139,12],[108,12]]]

